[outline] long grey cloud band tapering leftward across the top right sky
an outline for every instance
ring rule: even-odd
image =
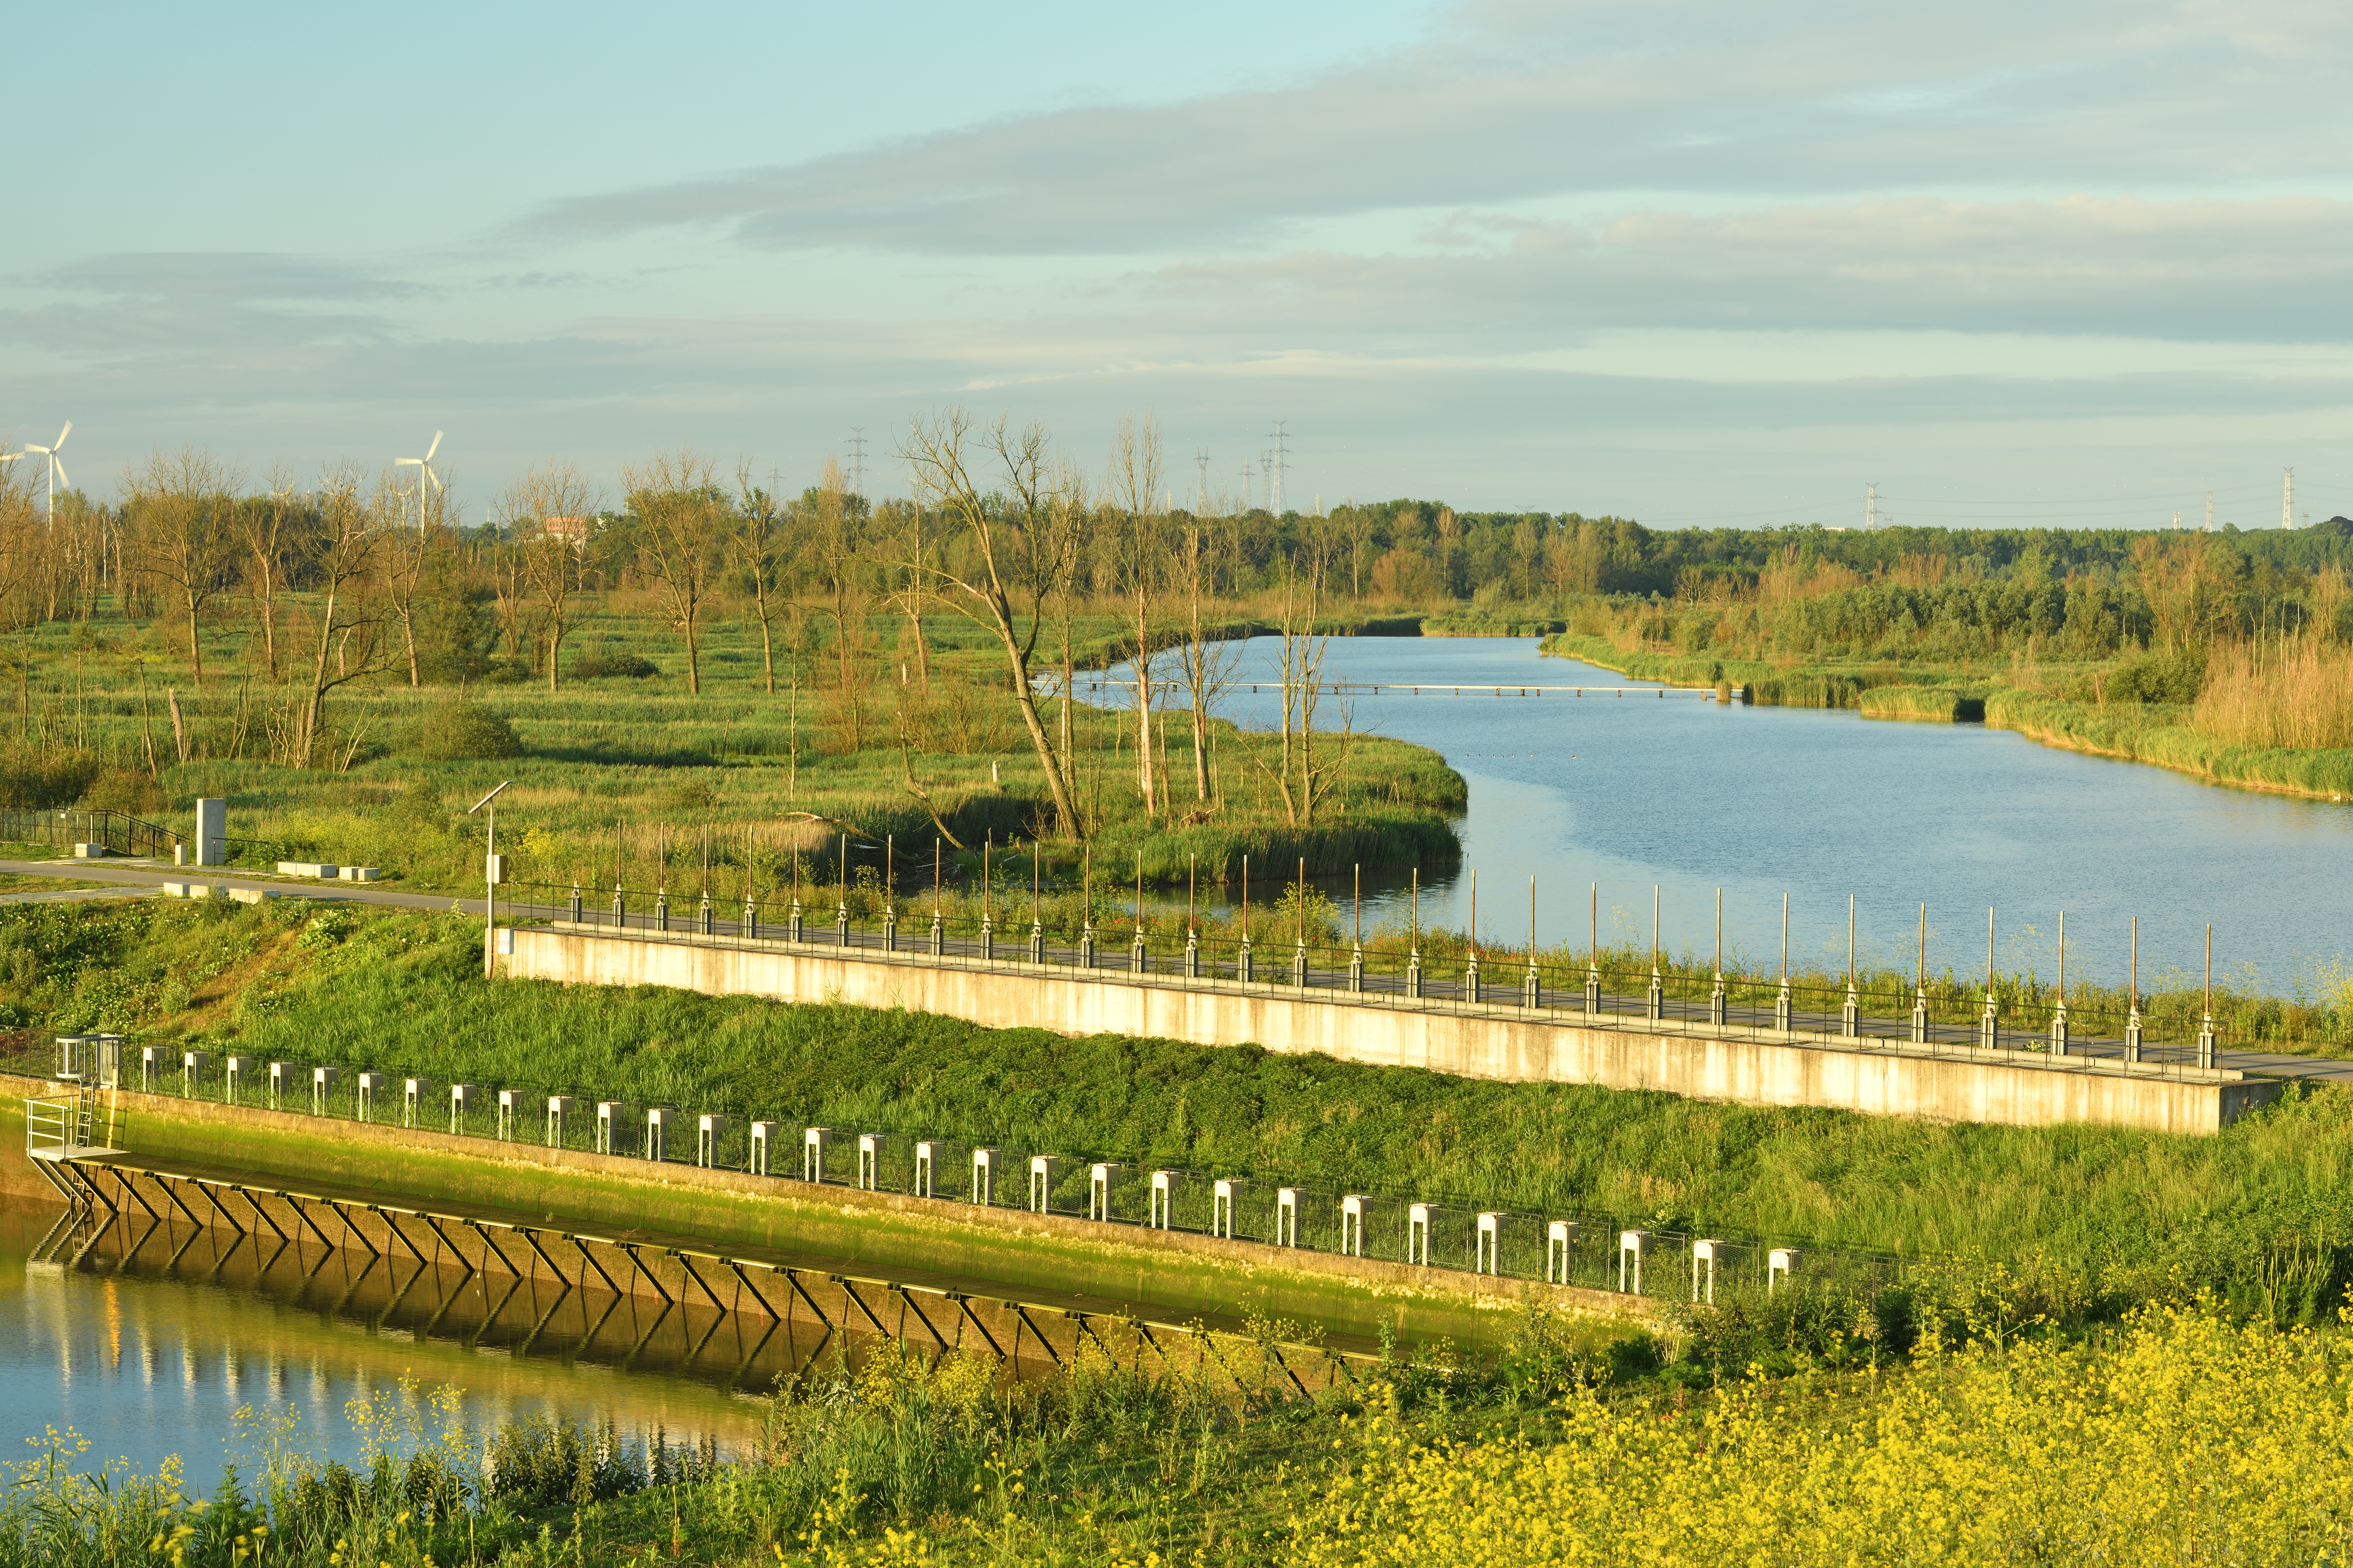
[[[2353,132],[2322,14],[1842,7],[1482,9],[1292,89],[1066,108],[584,195],[551,237],[715,226],[760,249],[1151,254],[1308,219],[1624,190],[1826,195],[2337,179]],[[2313,49],[2282,49],[2308,38]]]

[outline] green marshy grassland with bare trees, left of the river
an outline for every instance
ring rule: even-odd
[[[501,797],[504,849],[527,882],[609,886],[616,835],[624,879],[649,891],[696,879],[711,830],[720,889],[736,900],[746,877],[762,891],[788,886],[791,856],[816,856],[842,830],[859,844],[892,837],[915,860],[929,858],[944,823],[974,865],[984,837],[1052,837],[1045,776],[1002,665],[976,628],[946,616],[925,625],[922,658],[904,621],[873,616],[847,677],[816,639],[798,693],[781,663],[779,689],[767,693],[758,630],[722,623],[704,644],[704,691],[687,693],[666,623],[626,599],[591,607],[569,642],[584,677],[553,693],[529,679],[475,682],[464,693],[412,691],[391,677],[344,689],[329,698],[334,733],[313,769],[271,759],[282,696],[254,679],[247,637],[207,637],[219,642],[207,646],[212,675],[202,691],[179,686],[176,736],[165,705],[174,677],[148,670],[146,691],[122,679],[125,665],[155,663],[153,630],[82,642],[66,632],[38,628],[5,783],[24,799],[141,816],[226,797],[231,837],[252,839],[240,856],[252,863],[315,858],[379,865],[421,886],[468,884],[480,823],[456,813],[501,778],[515,780]],[[1104,663],[1118,632],[1111,618],[1080,621],[1073,654]],[[492,672],[527,675],[511,663]],[[1059,733],[1061,703],[1047,698],[1040,710]],[[1313,870],[1339,872],[1459,853],[1449,818],[1466,804],[1464,780],[1424,748],[1358,738],[1315,820],[1294,823],[1275,788],[1271,736],[1217,722],[1202,755],[1212,799],[1202,802],[1191,729],[1174,715],[1153,736],[1172,804],[1146,816],[1132,719],[1087,705],[1068,717],[1075,806],[1106,879],[1132,877],[1139,851],[1158,884],[1181,882],[1191,865],[1207,882],[1233,879],[1242,856],[1259,865],[1304,856]],[[61,757],[85,759],[82,776],[66,778],[73,769]],[[1054,872],[1075,877],[1075,846],[1049,844],[1049,856]]]

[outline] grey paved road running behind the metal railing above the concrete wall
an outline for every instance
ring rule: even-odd
[[[35,891],[35,893],[12,893],[12,896],[0,898],[0,903],[49,903],[49,900],[68,900],[68,898],[144,896],[144,893],[148,893],[148,889],[153,889],[160,882],[209,882],[214,886],[271,889],[271,891],[282,893],[282,896],[315,898],[320,903],[376,903],[376,905],[391,905],[391,907],[402,907],[402,910],[456,910],[461,914],[480,914],[482,912],[482,900],[480,898],[452,898],[447,893],[400,893],[395,889],[379,889],[379,886],[372,886],[372,884],[365,884],[365,882],[311,882],[311,879],[304,879],[304,877],[271,877],[271,875],[261,875],[261,872],[238,872],[238,870],[226,870],[226,867],[158,865],[153,860],[0,860],[0,872],[14,872],[19,877],[61,877],[61,879],[73,879],[73,882],[115,882],[115,884],[120,884],[125,889],[122,893],[106,893],[106,891],[99,891],[99,889],[73,889],[73,891],[54,889],[54,891]],[[515,914],[518,919],[534,919],[534,917],[536,919],[569,919],[569,910],[560,907],[560,905],[508,903],[504,898],[499,900],[499,912],[501,914]],[[680,910],[678,914],[673,914],[673,919],[680,922],[678,929],[685,929],[685,922],[687,922],[685,910]],[[633,910],[628,914],[628,924],[631,926],[649,926],[652,922],[649,922],[649,917],[645,912]],[[734,936],[736,933],[736,924],[722,919],[722,922],[715,922],[715,931],[720,936]],[[762,919],[760,936],[769,936],[769,933],[776,933],[776,931],[779,929],[767,926],[765,919]],[[807,931],[809,931],[809,943],[812,945],[833,945],[833,940],[835,940],[835,931],[833,931],[831,924],[819,924],[816,919],[812,919]],[[920,931],[911,929],[899,940],[908,943],[908,947],[913,947],[913,943],[925,940],[925,936]],[[849,936],[849,945],[854,945],[854,947],[880,947],[882,938],[878,933],[873,933],[873,931],[854,931]],[[979,943],[955,940],[955,943],[948,943],[948,950],[951,952],[962,950],[960,954],[969,954],[969,952],[979,950]],[[1009,954],[1014,950],[1014,945],[1007,943],[1005,938],[1000,938],[1000,947],[998,950]],[[1047,957],[1052,961],[1061,961],[1061,964],[1075,964],[1078,961],[1075,952],[1061,950],[1061,947],[1052,947]],[[1104,966],[1104,969],[1111,969],[1111,971],[1125,971],[1127,969],[1127,950],[1125,947],[1106,947],[1104,952],[1096,954],[1096,964]],[[1233,966],[1226,964],[1224,969],[1231,971]],[[1275,966],[1266,964],[1261,969],[1261,973],[1266,973],[1268,978],[1273,978]],[[1308,985],[1311,987],[1327,987],[1327,990],[1329,987],[1344,987],[1346,980],[1348,980],[1346,971],[1322,971],[1322,969],[1318,969],[1318,971],[1308,973]],[[1384,990],[1384,992],[1400,992],[1400,990],[1405,990],[1405,983],[1400,978],[1395,978],[1395,976],[1365,976],[1365,987],[1367,990]],[[1487,987],[1480,987],[1480,990],[1487,992]],[[1494,987],[1494,992],[1504,992],[1504,990],[1518,990],[1518,987],[1504,987],[1504,985]],[[1433,999],[1459,994],[1459,992],[1461,992],[1459,983],[1435,983],[1433,980],[1431,987],[1428,987],[1428,994]],[[1487,999],[1501,999],[1501,997],[1489,994]],[[1579,1001],[1579,1006],[1581,1006],[1581,1001]],[[1642,1011],[1642,999],[1640,997],[1609,997],[1609,999],[1605,999],[1605,1009],[1612,1011],[1612,1013],[1640,1013]],[[1565,1011],[1574,1011],[1574,1009],[1565,1009]],[[1701,1004],[1701,1001],[1675,1001],[1675,1004],[1668,1004],[1668,1013],[1689,1018],[1692,1023],[1699,1023],[1706,1016],[1706,1004]],[[1734,1025],[1751,1025],[1751,1027],[1769,1027],[1772,1025],[1772,1009],[1732,1009],[1732,1023]],[[1791,1023],[1795,1023],[1798,1027],[1812,1027],[1812,1030],[1821,1030],[1821,1032],[1835,1032],[1838,1030],[1838,1016],[1835,1013],[1798,1013],[1798,1016],[1791,1018]],[[1866,1034],[1871,1034],[1871,1037],[1901,1039],[1901,1037],[1908,1034],[1911,1025],[1906,1020],[1899,1020],[1899,1018],[1868,1018],[1868,1020],[1864,1020],[1864,1027],[1866,1027]],[[1972,1025],[1937,1025],[1937,1037],[1939,1039],[1948,1039],[1953,1044],[1974,1044],[1977,1041],[1977,1030]],[[2120,1058],[2125,1053],[2125,1041],[2120,1041],[2120,1039],[2087,1039],[2087,1037],[2078,1037],[2075,1051],[2080,1051],[2082,1056]],[[2186,1063],[2186,1060],[2191,1060],[2191,1056],[2193,1056],[2193,1048],[2186,1046],[2186,1044],[2155,1044],[2155,1041],[2151,1041],[2146,1046],[2146,1051],[2144,1051],[2144,1058],[2151,1060],[2151,1063]],[[2264,1077],[2353,1084],[2353,1060],[2332,1060],[2332,1058],[2320,1058],[2320,1056],[2287,1056],[2287,1053],[2280,1053],[2280,1051],[2217,1051],[2214,1053],[2214,1063],[2219,1067],[2235,1067],[2238,1072],[2259,1072]]]

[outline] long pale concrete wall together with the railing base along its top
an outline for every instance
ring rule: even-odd
[[[2228,1065],[2212,1039],[2085,1041],[1852,1009],[1807,1013],[1713,999],[1548,990],[1541,978],[1424,983],[1198,954],[1054,950],[981,938],[911,940],[847,922],[800,933],[659,931],[574,919],[501,929],[499,973],[567,985],[673,985],[706,994],[946,1013],[988,1027],[1120,1032],[1202,1046],[1257,1044],[1461,1077],[1652,1088],[1737,1105],[1819,1105],[1882,1117],[2047,1126],[2094,1121],[2214,1133],[2278,1098],[2282,1081]],[[711,926],[708,912],[701,922]],[[774,933],[774,936],[772,936]],[[795,940],[798,938],[798,940]],[[809,940],[814,938],[814,940]]]

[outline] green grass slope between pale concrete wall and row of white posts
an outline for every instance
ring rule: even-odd
[[[26,1048],[104,1025],[788,1126],[1979,1255],[2071,1319],[2177,1269],[2280,1316],[2325,1314],[2353,1281],[2353,1124],[2334,1088],[2289,1091],[2214,1138],[1929,1126],[918,1013],[489,985],[478,931],[440,914],[49,905],[0,912],[0,931],[33,954],[31,980],[7,987]],[[0,976],[16,969],[9,957]]]

